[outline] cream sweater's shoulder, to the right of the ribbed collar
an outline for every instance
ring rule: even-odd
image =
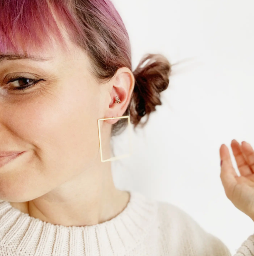
[[[205,231],[194,218],[174,204],[157,201],[157,221],[169,247],[186,247],[186,255],[231,256],[218,237]]]

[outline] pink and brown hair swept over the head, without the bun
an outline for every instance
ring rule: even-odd
[[[97,66],[97,78],[111,78],[108,67],[131,68],[128,33],[110,0],[0,0],[0,53],[41,52],[52,39],[67,49],[58,24]]]

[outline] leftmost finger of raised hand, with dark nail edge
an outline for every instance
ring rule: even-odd
[[[238,177],[238,175],[232,165],[230,153],[225,144],[221,145],[219,153],[222,160],[220,178],[222,180],[222,185],[224,186],[225,193],[227,196],[229,196],[232,192],[232,188],[237,185],[236,177]]]

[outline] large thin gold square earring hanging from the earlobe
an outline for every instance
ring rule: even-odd
[[[121,118],[128,118],[128,130],[129,130],[128,133],[129,133],[129,149],[130,149],[130,153],[129,154],[125,154],[125,155],[111,157],[111,158],[108,158],[106,160],[103,160],[101,134],[100,134],[100,121],[102,121],[102,120],[109,120],[109,119],[121,119]],[[100,160],[102,162],[115,161],[115,160],[118,160],[118,159],[121,159],[121,158],[130,157],[130,155],[132,155],[132,144],[131,144],[131,142],[132,142],[132,134],[131,134],[130,116],[111,117],[111,118],[98,119],[98,131],[99,131],[99,142],[100,142]]]

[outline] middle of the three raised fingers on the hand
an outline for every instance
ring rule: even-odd
[[[235,156],[235,161],[240,174],[242,176],[248,176],[252,174],[253,172],[247,163],[245,156],[243,155],[241,145],[235,139],[233,139],[231,142],[231,148]]]

